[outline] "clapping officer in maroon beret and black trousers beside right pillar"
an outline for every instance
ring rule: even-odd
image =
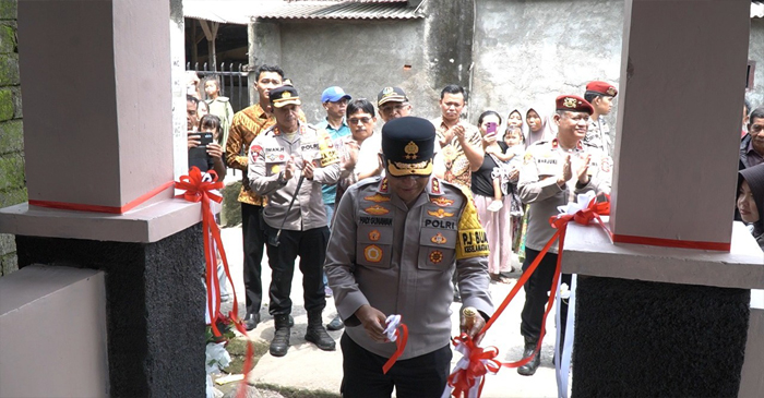
[[[523,272],[554,234],[549,218],[559,214],[558,206],[575,202],[575,195],[587,191],[610,192],[612,160],[601,150],[581,142],[586,136],[592,105],[584,98],[563,95],[557,98],[556,106],[553,120],[558,125],[557,137],[529,146],[520,170],[520,198],[529,204]],[[547,292],[557,288],[551,287],[557,267],[557,244],[551,246],[525,284],[521,323],[521,334],[525,338],[523,358],[533,355],[536,349],[541,334]],[[570,286],[570,275],[562,275],[563,282]],[[568,304],[563,303],[559,311],[562,321],[558,328],[564,336]],[[539,352],[530,362],[518,367],[517,373],[526,376],[536,373],[540,357]]]

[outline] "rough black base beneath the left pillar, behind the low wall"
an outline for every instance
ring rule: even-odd
[[[16,249],[22,268],[106,272],[111,397],[204,397],[201,224],[155,243],[16,236]]]

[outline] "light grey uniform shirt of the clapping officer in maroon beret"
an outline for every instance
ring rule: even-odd
[[[564,188],[560,188],[557,179],[562,176],[565,155],[571,155],[573,177]],[[589,182],[578,188],[576,170],[587,157]],[[521,201],[529,204],[525,246],[541,251],[557,231],[549,225],[549,217],[560,214],[558,206],[575,202],[577,194],[587,191],[609,194],[611,177],[612,159],[598,148],[580,142],[575,149],[569,152],[559,146],[557,138],[530,145],[523,158],[517,182]],[[549,251],[557,253],[558,245],[553,244]]]

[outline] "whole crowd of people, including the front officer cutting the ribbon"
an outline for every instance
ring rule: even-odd
[[[618,89],[607,82],[559,96],[551,113],[544,109],[552,104],[486,110],[476,124],[463,117],[468,98],[458,85],[441,91],[441,116],[429,121],[413,114],[401,87],[382,88],[374,104],[331,86],[321,96],[325,118],[311,124],[280,68],[261,65],[255,76],[259,101],[235,114],[215,80],[204,83],[206,101],[189,95],[189,166],[244,172],[238,201],[247,329],[261,321],[266,251],[270,352],[287,353],[299,256],[306,340],[335,350],[326,328],[346,327],[339,341],[346,397],[390,396],[393,387],[398,396],[440,396],[451,361],[451,302],[477,311],[477,321],[462,316],[461,325],[477,336],[493,312],[489,284],[510,282],[515,253],[527,269],[554,233],[548,220],[558,206],[578,193],[610,192],[614,134],[604,117]],[[764,248],[764,108],[749,109],[737,208]],[[192,157],[200,146],[207,156]],[[535,351],[557,256],[553,245],[525,285],[521,333],[524,358],[533,358],[518,367],[522,375],[540,363]],[[337,314],[324,327],[330,297]],[[566,310],[563,302],[563,338]],[[409,341],[395,371],[383,374],[395,350],[385,334],[393,314],[406,319]]]

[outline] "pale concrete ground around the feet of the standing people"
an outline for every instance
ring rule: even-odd
[[[242,250],[241,250],[241,228],[223,229],[223,241],[226,255],[229,260],[231,276],[236,288],[238,302],[240,303],[240,315],[243,316],[244,294],[242,279]],[[520,268],[518,264],[514,264]],[[514,282],[520,277],[516,273],[512,285],[491,284],[490,291],[494,305],[504,300]],[[307,325],[307,314],[302,307],[301,274],[295,274],[293,281],[291,298],[294,301],[293,316],[295,327],[291,329],[291,347],[289,352],[282,358],[265,354],[250,374],[250,382],[259,384],[277,385],[309,390],[324,390],[338,394],[342,383],[342,352],[339,351],[339,337],[342,330],[330,331],[330,335],[337,341],[337,350],[332,352],[321,351],[314,345],[307,342],[303,338]],[[263,290],[267,292],[271,280],[267,257],[263,257]],[[273,318],[267,312],[267,293],[263,300],[261,310],[262,321],[258,327],[249,333],[251,339],[270,341],[273,337]],[[523,351],[523,338],[520,335],[520,312],[523,306],[524,293],[521,290],[517,297],[504,311],[499,321],[491,327],[482,346],[496,346],[499,348],[501,361],[511,362],[521,358]],[[458,311],[461,304],[452,304],[454,325],[454,336],[457,333]],[[326,299],[324,310],[324,321],[329,323],[336,314],[334,300]],[[556,397],[557,383],[554,378],[554,367],[551,364],[554,339],[553,314],[550,314],[548,334],[544,341],[541,366],[536,374],[530,377],[521,376],[514,369],[502,369],[497,375],[489,375],[486,379],[482,397]],[[454,353],[453,364],[461,359],[458,353]]]

